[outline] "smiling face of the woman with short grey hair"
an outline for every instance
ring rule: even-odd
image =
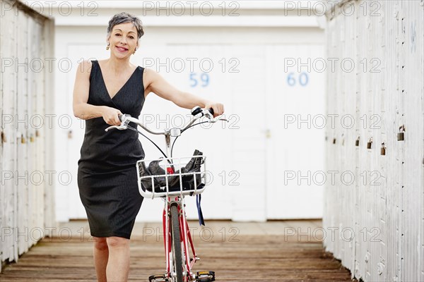
[[[133,23],[120,23],[115,25],[109,37],[111,54],[124,58],[133,54],[139,45],[137,30]]]

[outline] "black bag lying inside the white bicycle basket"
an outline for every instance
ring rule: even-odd
[[[194,150],[193,156],[202,156],[203,153],[199,150]],[[158,176],[164,175],[165,170],[160,167],[160,161],[151,161],[146,168],[144,161],[139,162],[139,173],[141,176]],[[201,189],[204,187],[204,184],[201,183],[201,165],[204,164],[203,157],[193,157],[190,159],[188,164],[181,168],[181,173],[193,173],[198,172],[196,175],[188,175],[181,176],[182,178],[182,190],[194,190],[194,178],[196,178],[197,189]],[[176,171],[175,174],[179,173]],[[169,191],[179,191],[179,176],[172,176],[172,174],[168,174],[167,176]],[[155,187],[155,192],[166,192],[166,179],[165,176],[155,177],[153,178],[153,185]],[[152,192],[152,178],[145,178],[141,180],[141,186],[144,191],[148,190]]]

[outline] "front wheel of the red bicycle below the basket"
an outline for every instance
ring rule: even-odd
[[[172,234],[172,269],[175,271],[176,282],[182,281],[182,250],[179,239],[179,216],[177,204],[171,206],[171,234]]]

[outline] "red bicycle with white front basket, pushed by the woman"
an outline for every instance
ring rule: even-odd
[[[203,221],[201,214],[200,201],[201,193],[206,189],[206,157],[199,151],[194,152],[190,157],[172,157],[172,149],[177,138],[188,128],[201,123],[216,123],[216,121],[227,121],[223,118],[213,118],[213,109],[201,109],[196,106],[192,109],[194,118],[184,128],[165,129],[163,132],[154,132],[146,128],[137,118],[124,114],[119,115],[121,125],[113,125],[105,130],[117,128],[119,130],[131,129],[143,135],[157,147],[165,158],[150,160],[148,168],[146,161],[139,160],[136,163],[139,192],[145,198],[162,198],[165,202],[163,209],[163,230],[164,245],[166,257],[165,274],[152,275],[149,282],[208,282],[215,281],[214,271],[197,271],[193,273],[194,263],[200,258],[196,255],[192,235],[189,231],[189,225],[185,214],[184,197],[187,195],[196,195],[196,203],[199,212],[199,221]],[[199,118],[206,117],[207,121],[194,123]],[[135,123],[148,133],[153,135],[165,135],[166,154],[158,145],[155,144],[146,135],[129,123]],[[175,137],[171,146],[171,137]],[[170,156],[170,157],[167,157]],[[189,159],[189,161],[187,161]],[[162,162],[162,164],[160,164]],[[202,166],[203,165],[203,166]],[[188,166],[188,168],[187,168]],[[151,171],[155,170],[155,174]],[[193,169],[191,169],[193,168]],[[192,257],[189,255],[189,248],[192,250]]]

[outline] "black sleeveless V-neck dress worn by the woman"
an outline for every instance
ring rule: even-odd
[[[111,99],[99,63],[92,61],[88,104],[110,106],[138,118],[144,103],[143,70],[138,66]],[[86,120],[78,160],[78,189],[91,235],[129,239],[143,202],[136,161],[144,158],[144,152],[138,133],[117,129],[106,132],[109,126],[102,117]]]

